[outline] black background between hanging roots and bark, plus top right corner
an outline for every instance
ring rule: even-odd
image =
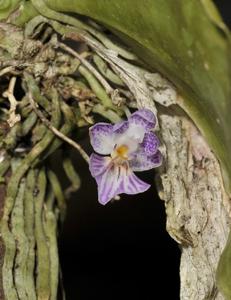
[[[231,27],[230,1],[215,2]],[[154,171],[140,174],[152,183],[149,191],[102,206],[78,156],[76,168],[82,186],[68,203],[60,237],[67,300],[178,300],[180,250],[165,230]]]

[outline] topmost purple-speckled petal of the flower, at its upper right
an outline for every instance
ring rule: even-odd
[[[156,125],[156,117],[149,109],[137,110],[128,118],[128,121],[136,125],[141,125],[147,131]]]

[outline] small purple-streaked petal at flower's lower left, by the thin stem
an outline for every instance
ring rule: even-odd
[[[111,162],[111,157],[100,156],[98,154],[92,153],[89,159],[89,169],[91,175],[96,177],[102,174]]]

